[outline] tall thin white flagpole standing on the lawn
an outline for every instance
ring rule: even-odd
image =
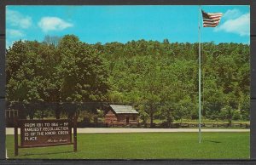
[[[199,143],[201,143],[201,26],[200,26],[200,14],[201,14],[201,6],[199,5],[198,8],[198,63],[199,63],[199,69],[198,69],[198,96],[199,96],[199,124],[198,124],[198,129],[199,129]]]

